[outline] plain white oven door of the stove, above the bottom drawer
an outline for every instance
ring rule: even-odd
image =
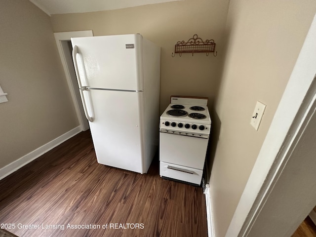
[[[160,132],[159,160],[203,169],[208,138]]]

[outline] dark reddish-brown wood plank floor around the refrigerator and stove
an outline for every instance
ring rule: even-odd
[[[158,158],[143,175],[98,164],[89,131],[2,179],[0,190],[0,223],[19,237],[207,237],[201,188],[161,179]]]

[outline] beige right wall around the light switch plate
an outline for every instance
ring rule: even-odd
[[[314,0],[231,0],[215,103],[210,177],[216,236],[224,237],[316,11]],[[267,105],[258,131],[256,101]]]

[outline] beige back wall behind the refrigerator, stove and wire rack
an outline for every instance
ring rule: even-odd
[[[94,36],[135,34],[161,46],[160,112],[170,95],[216,96],[223,58],[229,0],[185,0],[119,10],[52,15],[54,32],[93,30]],[[218,56],[204,53],[172,58],[174,44],[197,34],[217,43]]]

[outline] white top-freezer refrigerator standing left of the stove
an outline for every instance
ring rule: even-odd
[[[97,161],[147,173],[158,147],[160,47],[139,34],[71,41]]]

